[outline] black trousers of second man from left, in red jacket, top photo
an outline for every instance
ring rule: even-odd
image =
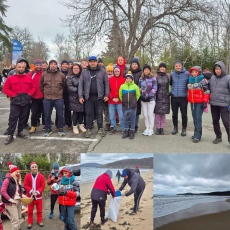
[[[31,104],[31,125],[36,126],[37,122],[42,114],[42,124],[45,125],[44,110],[43,110],[43,99],[32,98]]]

